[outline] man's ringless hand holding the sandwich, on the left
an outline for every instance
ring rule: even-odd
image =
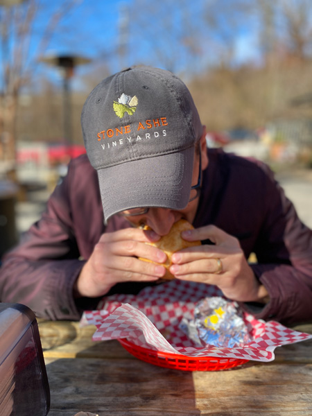
[[[158,239],[155,232],[139,228],[103,234],[78,276],[74,296],[98,297],[122,281],[156,281],[164,276],[164,266],[137,259],[164,263],[166,254],[162,250],[144,244]]]

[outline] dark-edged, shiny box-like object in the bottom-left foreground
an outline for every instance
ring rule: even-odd
[[[46,416],[50,390],[33,311],[0,304],[0,336],[0,415]]]

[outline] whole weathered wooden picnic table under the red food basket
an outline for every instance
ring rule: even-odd
[[[312,340],[277,347],[275,361],[186,372],[130,355],[95,327],[39,322],[51,390],[49,416],[312,415]],[[312,324],[297,326],[312,333]]]

